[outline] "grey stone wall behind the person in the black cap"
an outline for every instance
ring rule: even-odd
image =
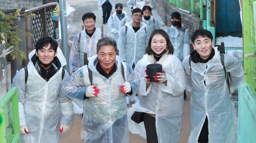
[[[190,35],[199,28],[203,28],[203,20],[197,14],[188,14],[184,11],[180,11],[176,5],[170,4],[167,0],[151,0],[153,8],[155,8],[158,14],[162,17],[166,25],[170,24],[170,19],[173,11],[178,11],[181,15],[182,23],[187,26]]]

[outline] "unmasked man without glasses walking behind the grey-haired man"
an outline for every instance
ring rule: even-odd
[[[69,55],[69,72],[75,72],[84,66],[84,53],[87,57],[96,55],[96,44],[102,37],[107,37],[100,28],[95,28],[96,16],[94,13],[85,13],[82,17],[85,29],[77,33]]]

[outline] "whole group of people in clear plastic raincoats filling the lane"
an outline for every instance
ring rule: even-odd
[[[93,13],[84,14],[85,29],[76,34],[70,52],[71,77],[63,68],[66,59],[58,43],[51,37],[36,42],[27,67],[12,82],[18,87],[22,143],[60,142],[60,132],[69,130],[73,121],[72,101],[84,111],[85,143],[128,143],[128,130],[148,143],[178,143],[185,89],[191,91],[188,143],[236,141],[229,88],[244,83],[238,59],[220,54],[212,33],[204,29],[191,35],[194,51],[190,53],[189,32],[178,12],[172,13],[170,27],[159,29],[154,20],[151,30],[152,23],[140,22],[143,15],[150,16],[151,8],[144,6],[142,11],[134,6],[132,22],[121,26],[122,18],[129,18],[117,12],[122,10],[117,5],[116,15],[108,20],[115,27],[109,28],[113,38],[95,28]],[[154,63],[163,70],[150,81],[146,67]],[[230,73],[229,88],[224,68]],[[133,100],[136,94],[140,102],[127,110],[125,95]],[[143,116],[142,122],[133,121],[134,113]]]

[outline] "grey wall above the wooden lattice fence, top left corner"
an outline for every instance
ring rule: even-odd
[[[1,9],[16,9],[25,7],[30,9],[43,4],[43,0],[0,0]]]

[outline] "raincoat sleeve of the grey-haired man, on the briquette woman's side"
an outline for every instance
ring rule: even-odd
[[[136,95],[137,92],[137,88],[139,86],[139,76],[132,70],[132,67],[125,63],[122,62],[122,64],[126,65],[127,69],[126,69],[126,74],[125,74],[125,81],[128,80],[127,82],[129,82],[131,84],[132,87],[132,97],[134,97]]]

